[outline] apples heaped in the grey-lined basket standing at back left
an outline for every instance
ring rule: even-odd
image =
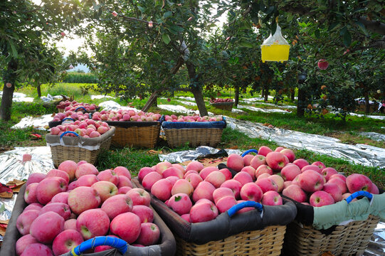
[[[50,134],[60,136],[64,132],[70,131],[77,133],[80,137],[96,138],[102,136],[102,134],[105,134],[110,129],[111,127],[106,122],[85,119],[84,121],[76,120],[75,122],[52,127]],[[76,137],[72,133],[64,134],[64,136]]]

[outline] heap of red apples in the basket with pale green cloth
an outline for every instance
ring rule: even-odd
[[[295,159],[294,152],[282,146],[275,151],[261,146],[256,156],[231,155],[227,165],[235,171],[254,173],[260,188],[264,186],[268,191],[314,207],[337,203],[357,191],[379,193],[379,188],[363,174],[346,177],[321,161],[310,164],[305,159]]]

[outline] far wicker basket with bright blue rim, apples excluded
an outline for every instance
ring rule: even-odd
[[[221,142],[226,119],[216,122],[162,122],[167,144],[177,146],[213,146]]]

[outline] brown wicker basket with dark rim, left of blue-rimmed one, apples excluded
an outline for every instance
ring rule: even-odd
[[[152,149],[159,142],[162,122],[106,122],[115,127],[115,136],[112,137],[111,144],[117,148],[130,146]]]

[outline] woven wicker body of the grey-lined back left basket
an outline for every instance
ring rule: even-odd
[[[95,150],[80,148],[79,146],[50,145],[53,165],[55,166],[55,168],[58,168],[59,164],[66,160],[72,160],[76,163],[85,160],[88,161],[88,163],[90,164],[95,164],[97,156],[100,154],[100,151],[102,151],[103,149],[110,149],[112,137],[115,132],[115,127],[111,127],[110,131],[110,134],[102,134],[102,141],[100,142],[100,146],[98,149]],[[103,137],[103,135],[106,136]]]

